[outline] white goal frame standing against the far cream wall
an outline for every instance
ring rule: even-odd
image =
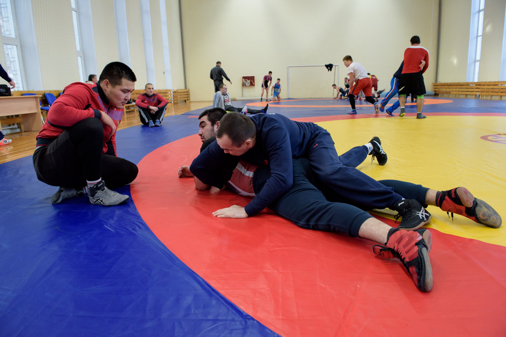
[[[344,85],[344,79],[341,79],[339,74],[339,65],[335,63],[332,71],[328,71],[323,64],[288,66],[286,81],[286,97],[297,99],[330,98],[332,95],[335,97],[336,93],[332,84]]]

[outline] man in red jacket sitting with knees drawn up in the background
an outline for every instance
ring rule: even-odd
[[[142,124],[149,127],[160,126],[165,116],[165,108],[168,101],[154,92],[153,84],[148,83],[144,86],[143,94],[140,94],[135,100],[135,105],[139,109],[139,118]]]

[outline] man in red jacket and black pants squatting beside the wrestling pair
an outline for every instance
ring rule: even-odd
[[[71,83],[51,106],[37,136],[33,167],[40,181],[61,186],[53,204],[84,193],[95,205],[119,205],[129,199],[109,188],[137,177],[134,163],[116,157],[116,129],[136,80],[127,65],[111,62],[98,83]]]

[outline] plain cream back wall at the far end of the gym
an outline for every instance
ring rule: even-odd
[[[241,96],[242,76],[256,79],[256,88],[245,88],[244,96],[259,97],[261,79],[269,70],[273,78],[281,78],[286,90],[288,65],[339,63],[342,83],[346,72],[342,59],[347,54],[379,78],[380,88],[388,89],[411,36],[419,35],[434,58],[438,4],[437,0],[184,1],[186,76],[192,100],[212,99],[209,71],[216,61],[232,79],[231,97]],[[326,72],[324,67],[315,68],[314,76],[320,76],[316,69]],[[434,78],[431,64],[425,74],[429,89]]]

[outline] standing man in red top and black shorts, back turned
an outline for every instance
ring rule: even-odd
[[[424,76],[427,68],[429,68],[429,52],[420,46],[420,38],[418,36],[411,37],[411,46],[404,51],[404,66],[399,78],[399,104],[401,106],[400,117],[405,114],[406,97],[411,94],[416,96],[416,118],[426,118],[421,114],[424,107],[425,83]],[[425,61],[425,65],[420,70],[420,62]]]

